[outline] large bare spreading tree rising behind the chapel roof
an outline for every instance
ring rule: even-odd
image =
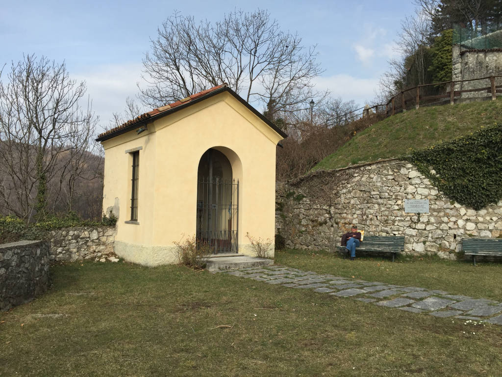
[[[145,106],[226,82],[247,102],[267,107],[273,120],[318,95],[312,82],[321,73],[315,46],[305,48],[298,35],[281,31],[267,11],[234,11],[214,24],[175,13],[158,33],[143,60]]]

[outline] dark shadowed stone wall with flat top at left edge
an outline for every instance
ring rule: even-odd
[[[49,243],[19,241],[0,245],[0,310],[33,300],[47,290]]]

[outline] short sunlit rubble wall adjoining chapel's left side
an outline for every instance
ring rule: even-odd
[[[63,228],[51,232],[50,258],[58,262],[76,260],[112,260],[115,227]]]

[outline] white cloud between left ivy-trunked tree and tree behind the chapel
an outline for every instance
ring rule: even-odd
[[[97,66],[72,75],[77,81],[85,80],[87,94],[102,129],[109,128],[113,113],[124,110],[127,97],[135,98],[137,95],[136,83],[142,80],[141,69],[140,64],[116,64]]]

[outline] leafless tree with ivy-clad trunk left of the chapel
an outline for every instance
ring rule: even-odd
[[[42,218],[65,177],[79,176],[97,122],[91,104],[79,104],[85,91],[85,82],[71,80],[64,63],[34,55],[12,63],[6,83],[0,81],[2,213]],[[74,178],[67,187],[71,208]]]

